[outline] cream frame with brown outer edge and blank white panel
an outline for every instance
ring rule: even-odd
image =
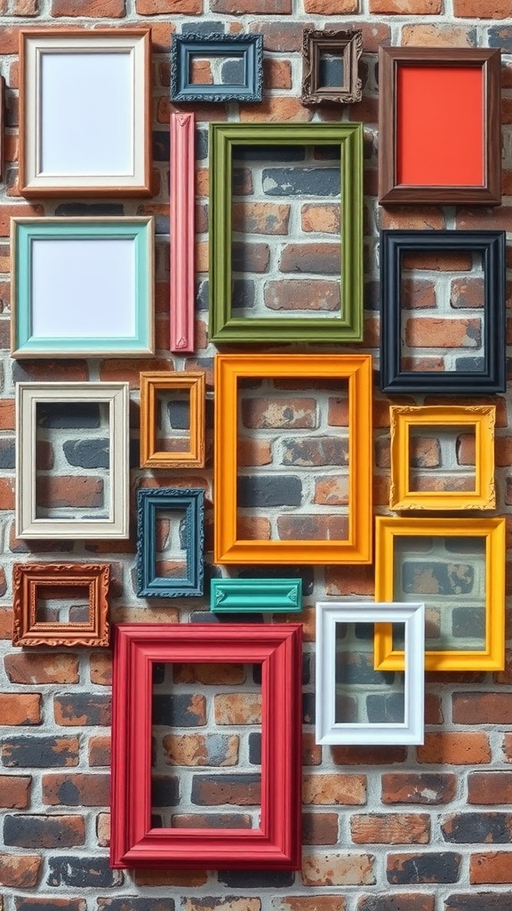
[[[150,195],[150,34],[21,30],[23,195]]]

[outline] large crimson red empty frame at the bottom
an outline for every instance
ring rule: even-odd
[[[302,624],[121,623],[114,631],[115,868],[296,870],[301,865]],[[261,828],[151,828],[154,662],[261,664]]]

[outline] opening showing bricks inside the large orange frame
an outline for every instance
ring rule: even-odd
[[[237,537],[349,535],[348,381],[239,381]]]

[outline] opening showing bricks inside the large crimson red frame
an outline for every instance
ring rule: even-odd
[[[260,828],[260,664],[153,664],[152,741],[153,828]]]

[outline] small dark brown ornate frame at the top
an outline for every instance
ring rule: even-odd
[[[336,54],[343,58],[343,83],[341,86],[320,84],[322,54]],[[359,29],[338,31],[305,28],[302,33],[302,104],[339,105],[361,101],[363,83],[358,65],[363,53],[363,32]]]

